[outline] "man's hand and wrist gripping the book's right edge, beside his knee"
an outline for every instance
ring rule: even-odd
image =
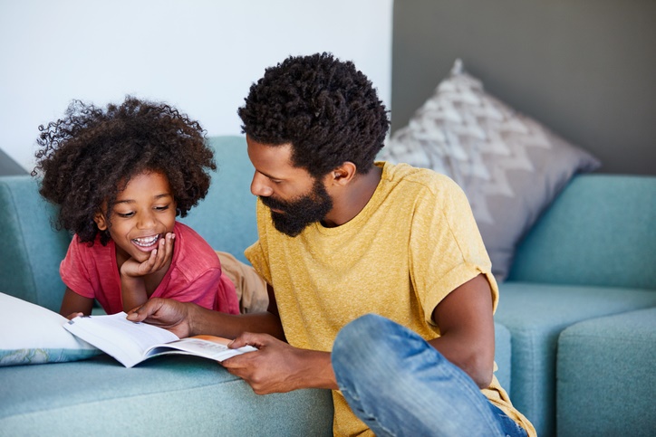
[[[221,363],[256,394],[285,393],[299,388],[337,388],[328,352],[292,347],[267,334],[245,332],[230,347],[256,347],[256,352],[233,356]]]

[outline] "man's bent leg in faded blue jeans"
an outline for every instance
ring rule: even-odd
[[[337,384],[377,436],[522,436],[465,372],[410,329],[376,315],[346,325],[333,345]]]

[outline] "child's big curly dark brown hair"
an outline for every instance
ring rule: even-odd
[[[73,100],[63,119],[39,130],[32,176],[43,176],[39,192],[60,206],[57,227],[81,242],[93,243],[100,232],[93,217],[103,205],[111,223],[116,196],[133,176],[167,176],[184,217],[207,195],[208,169],[217,168],[205,130],[165,103],[128,96],[101,109]],[[109,240],[102,232],[101,243]]]

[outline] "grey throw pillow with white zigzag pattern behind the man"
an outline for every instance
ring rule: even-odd
[[[600,165],[487,94],[460,60],[379,158],[432,168],[462,187],[497,280],[506,279],[517,242],[571,177]]]

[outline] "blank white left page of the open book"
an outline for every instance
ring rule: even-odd
[[[143,361],[144,353],[150,347],[178,339],[178,336],[164,328],[131,322],[124,312],[111,316],[77,317],[63,327],[113,356],[126,367]]]

